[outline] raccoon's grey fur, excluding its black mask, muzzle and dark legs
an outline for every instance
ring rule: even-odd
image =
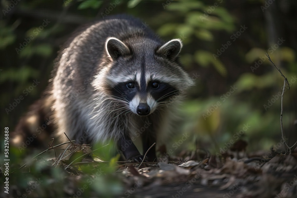
[[[88,139],[82,143],[118,140],[124,133],[135,135],[145,121],[153,123],[148,134],[162,136],[170,131],[179,102],[193,82],[178,61],[181,41],[164,43],[141,26],[135,19],[102,20],[77,34],[61,51],[51,92],[61,137],[65,138],[65,132],[71,140],[79,140],[87,132]],[[113,97],[109,90],[127,78],[140,81],[143,75],[172,85],[178,94],[161,104],[151,99],[154,109],[141,117],[129,102]],[[139,97],[146,101],[148,95]]]

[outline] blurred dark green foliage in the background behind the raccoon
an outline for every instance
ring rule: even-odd
[[[13,130],[28,106],[40,97],[50,78],[57,51],[75,28],[105,15],[127,13],[141,18],[164,40],[180,38],[184,43],[180,58],[196,86],[189,91],[181,116],[184,121],[172,142],[179,140],[182,133],[191,134],[191,138],[176,152],[195,150],[198,142],[200,148],[216,153],[226,142],[235,140],[234,134],[245,124],[250,128],[240,139],[248,142],[248,151],[268,150],[280,141],[280,97],[275,99],[275,96],[282,91],[283,78],[265,53],[289,81],[293,79],[290,90],[284,94],[283,122],[289,145],[297,140],[297,85],[293,82],[297,73],[297,5],[294,3],[274,1],[263,11],[264,0],[15,2],[17,4],[10,8],[11,1],[1,1],[1,126]],[[241,26],[247,29],[241,32]],[[240,36],[236,36],[238,34]],[[282,38],[285,41],[277,44]],[[23,95],[23,90],[36,79],[41,83],[7,115],[5,108]],[[236,87],[233,93],[232,86]],[[271,107],[265,108],[273,99]],[[172,143],[166,143],[168,148],[172,147]],[[13,148],[10,152],[17,153]],[[105,152],[98,152],[99,157],[111,158]],[[15,155],[12,161],[20,164],[20,156]],[[113,166],[111,162],[107,167]],[[80,168],[88,170],[84,166]],[[34,168],[37,172],[41,170],[42,165]],[[64,185],[62,179],[59,180],[64,173],[55,168],[49,171],[58,182],[47,181],[42,185],[53,185],[58,190],[59,185]],[[105,171],[110,173],[113,169]],[[18,177],[18,183],[24,188],[27,180]],[[80,185],[85,182],[81,180]],[[91,186],[105,196],[121,189],[119,182],[106,175],[97,177]]]

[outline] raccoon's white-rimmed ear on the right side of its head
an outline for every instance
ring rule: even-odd
[[[157,54],[174,61],[180,53],[182,47],[183,43],[181,42],[181,39],[172,39],[162,45],[157,50]]]

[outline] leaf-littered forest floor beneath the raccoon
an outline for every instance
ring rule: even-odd
[[[297,153],[247,154],[245,147],[240,140],[216,155],[199,150],[143,164],[39,156],[10,173],[10,194],[0,197],[297,197]]]

